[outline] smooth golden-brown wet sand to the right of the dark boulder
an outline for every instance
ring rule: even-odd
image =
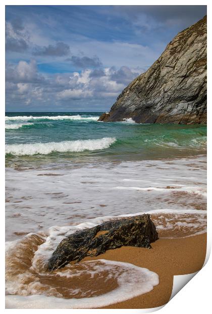
[[[206,233],[181,239],[159,239],[151,245],[152,250],[122,247],[84,259],[128,262],[148,268],[160,277],[160,284],[152,291],[102,308],[152,308],[166,304],[172,294],[173,276],[201,269],[206,254]]]

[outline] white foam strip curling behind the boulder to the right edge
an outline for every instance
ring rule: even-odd
[[[83,230],[87,228],[95,227],[103,222],[114,220],[114,219],[121,219],[124,217],[132,217],[142,214],[150,214],[153,215],[153,222],[156,225],[156,229],[160,231],[170,231],[175,230],[176,228],[179,229],[178,222],[181,222],[181,229],[182,226],[185,231],[187,231],[187,222],[193,223],[191,232],[189,235],[195,235],[199,233],[206,232],[206,211],[205,210],[171,210],[171,209],[157,209],[157,210],[150,210],[150,211],[143,211],[138,213],[130,213],[118,216],[103,216],[103,217],[96,217],[90,219],[88,221],[82,222],[77,225],[65,225],[65,226],[51,226],[45,235],[45,242],[41,244],[38,250],[35,252],[34,258],[32,260],[32,266],[34,269],[38,269],[41,265],[42,261],[42,268],[45,268],[46,263],[48,262],[49,258],[51,258],[52,253],[56,250],[59,243],[69,235],[73,234],[77,230]],[[195,221],[195,222],[194,222]],[[176,230],[175,230],[176,231]],[[182,233],[182,230],[181,230]],[[31,233],[30,233],[31,234]],[[186,235],[187,236],[187,235]],[[172,235],[166,238],[184,238],[185,236],[178,236],[175,237]],[[12,248],[11,242],[9,242],[10,248]],[[14,241],[15,247],[17,246],[17,242]],[[37,266],[39,264],[39,266]]]

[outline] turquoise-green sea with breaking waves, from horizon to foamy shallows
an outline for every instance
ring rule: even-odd
[[[103,123],[97,122],[99,115],[99,112],[6,113],[6,162],[9,165],[17,161],[28,164],[59,160],[136,161],[205,152],[205,125]]]

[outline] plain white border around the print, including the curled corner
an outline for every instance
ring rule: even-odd
[[[25,0],[25,1],[6,1],[3,0],[0,4],[0,14],[1,14],[1,19],[0,19],[0,23],[1,23],[1,45],[2,45],[2,49],[1,49],[1,57],[2,57],[2,62],[1,64],[1,115],[0,115],[0,127],[1,127],[1,147],[4,147],[4,136],[5,136],[5,127],[4,127],[4,123],[5,123],[5,111],[4,111],[4,104],[5,104],[5,40],[4,40],[4,34],[5,34],[5,5],[170,5],[170,1],[126,1],[126,0],[117,0],[117,1],[85,1],[85,0],[73,0],[73,1],[58,1],[58,0],[45,0],[44,2],[41,0]],[[172,2],[171,5],[207,5],[207,15],[208,15],[208,51],[211,51],[211,15],[210,15],[210,2],[209,1],[175,1]],[[208,54],[208,67],[209,67],[209,83],[210,83],[210,73],[211,73],[211,65],[210,65],[210,54]],[[208,83],[208,86],[210,87]],[[211,109],[210,107],[212,106],[210,104],[210,99],[211,99],[211,95],[210,95],[210,88],[208,88],[208,103],[209,103],[209,108],[208,108],[208,190],[211,190],[211,179],[210,179],[210,161],[212,160],[212,155],[211,155],[211,149],[210,149],[210,139],[211,139],[211,127],[210,127],[210,117],[211,117]],[[5,215],[4,215],[4,208],[5,208],[5,191],[4,191],[4,175],[5,175],[5,166],[4,166],[4,161],[5,161],[5,154],[4,154],[4,150],[2,149],[2,154],[1,154],[1,222],[2,222],[2,228],[1,228],[1,240],[2,240],[2,247],[4,247],[4,242],[5,242]],[[210,205],[211,205],[211,193],[208,193],[208,237],[207,237],[207,259],[209,257],[209,252],[210,252],[210,248],[211,248],[211,209],[210,209]],[[2,252],[3,250],[1,250],[2,253],[2,264],[1,264],[1,297],[4,299],[4,280],[5,280],[5,273],[4,273],[4,252]],[[211,278],[211,269],[212,269],[212,259],[211,257],[209,258],[208,262],[206,263],[206,265],[203,267],[202,270],[200,270],[196,276],[191,280],[191,282],[189,282],[179,293],[177,293],[177,296],[175,296],[171,301],[169,301],[169,303],[163,307],[162,309],[160,309],[160,314],[170,314],[170,313],[179,313],[179,311],[186,313],[188,312],[192,312],[192,313],[208,313],[211,310],[211,305],[210,305],[210,290],[211,287],[209,286],[209,280],[208,278]],[[1,304],[1,309],[3,311],[5,311],[6,309],[4,308],[4,301],[2,300]],[[22,309],[7,309],[7,311],[17,311],[22,313]],[[31,311],[31,310],[30,310]],[[32,311],[50,311],[55,312],[57,311],[57,309],[51,309],[51,310],[36,310],[36,309],[32,309]],[[87,313],[99,313],[99,312],[104,312],[104,313],[108,313],[110,312],[114,312],[116,311],[117,313],[129,313],[129,309],[112,309],[112,310],[108,310],[108,309],[78,309],[78,310],[67,310],[65,309],[65,311],[69,311],[69,313],[76,313],[77,314],[87,314]],[[143,310],[140,309],[131,309],[130,312],[133,313],[141,313],[144,312]],[[147,312],[147,311],[146,311]]]

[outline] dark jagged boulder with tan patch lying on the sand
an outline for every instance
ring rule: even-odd
[[[105,222],[76,231],[63,239],[48,262],[48,270],[121,246],[151,248],[150,243],[157,239],[155,226],[148,214]]]

